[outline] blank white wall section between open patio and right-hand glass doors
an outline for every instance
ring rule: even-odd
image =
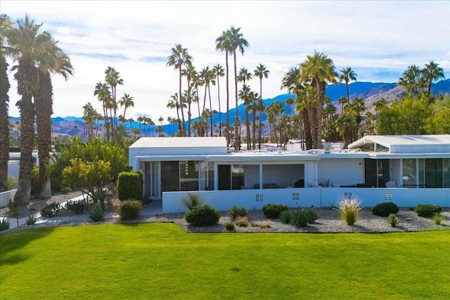
[[[319,181],[326,184],[356,185],[364,183],[364,159],[321,159]]]

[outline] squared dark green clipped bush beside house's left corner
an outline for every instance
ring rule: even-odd
[[[121,172],[117,180],[117,192],[119,200],[142,200],[143,197],[143,174],[137,172]]]

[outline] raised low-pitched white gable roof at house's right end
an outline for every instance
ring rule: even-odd
[[[348,145],[349,150],[364,148],[364,145],[374,145],[387,148],[389,153],[450,153],[450,134],[430,136],[364,136]],[[381,150],[380,152],[386,152]]]

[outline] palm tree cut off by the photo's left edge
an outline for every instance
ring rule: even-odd
[[[11,20],[7,15],[0,15],[0,193],[8,189],[9,159],[9,96],[8,63],[4,56],[6,31],[11,29]]]

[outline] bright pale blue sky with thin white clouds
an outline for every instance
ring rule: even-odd
[[[423,67],[430,60],[450,78],[450,1],[1,0],[0,13],[14,21],[30,15],[68,53],[75,73],[67,81],[53,77],[53,117],[82,117],[88,102],[101,112],[94,87],[104,81],[108,66],[124,81],[117,96],[134,98],[127,119],[174,117],[166,107],[179,89],[178,72],[166,66],[171,48],[187,48],[197,70],[225,66],[215,40],[231,26],[240,27],[250,44],[237,57],[238,69],[252,71],[262,63],[270,71],[262,81],[262,98],[286,93],[280,89],[283,74],[314,51],[331,58],[337,71],[352,67],[358,81],[397,82],[409,65]],[[13,72],[8,77],[9,115],[18,117]],[[259,79],[249,84],[259,92]],[[220,86],[223,112],[224,77]],[[211,93],[218,110],[216,87]],[[231,98],[231,108],[233,103]]]

